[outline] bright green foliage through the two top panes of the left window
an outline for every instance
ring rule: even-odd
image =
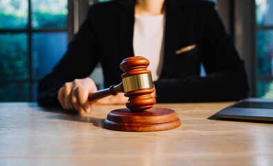
[[[32,28],[66,28],[67,1],[32,0]],[[0,0],[0,29],[26,29],[28,0]]]

